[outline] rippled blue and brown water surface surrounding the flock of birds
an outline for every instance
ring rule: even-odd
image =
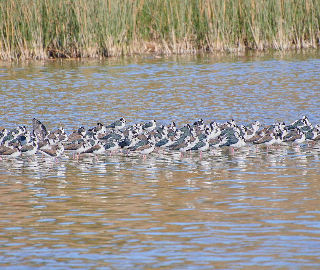
[[[0,67],[0,129],[320,123],[319,52]],[[0,268],[319,269],[320,142],[0,161]]]

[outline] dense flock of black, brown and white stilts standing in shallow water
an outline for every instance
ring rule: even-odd
[[[51,159],[59,157],[63,152],[73,153],[73,159],[79,159],[80,154],[92,153],[94,155],[109,152],[110,156],[118,148],[126,149],[127,154],[137,152],[143,155],[143,159],[154,151],[155,147],[179,151],[180,157],[185,151],[202,152],[212,148],[213,152],[218,147],[230,147],[232,154],[234,149],[244,147],[246,144],[280,147],[282,142],[298,145],[303,142],[314,143],[320,139],[319,125],[312,125],[307,116],[294,121],[289,126],[283,122],[273,123],[264,127],[259,121],[249,125],[236,125],[232,119],[219,124],[211,122],[205,124],[202,119],[192,125],[186,124],[178,129],[174,122],[170,125],[157,126],[156,120],[149,123],[133,124],[124,129],[125,120],[120,120],[104,126],[97,123],[96,127],[85,129],[81,127],[67,135],[60,127],[55,131],[48,131],[43,123],[33,118],[33,131],[29,132],[25,126],[18,126],[8,131],[0,131],[0,158],[14,159],[20,155],[28,157],[41,153]],[[262,127],[262,129],[260,129]],[[258,148],[257,148],[258,149]]]

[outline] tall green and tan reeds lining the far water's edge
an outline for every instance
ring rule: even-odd
[[[0,59],[316,47],[319,0],[4,0]]]

